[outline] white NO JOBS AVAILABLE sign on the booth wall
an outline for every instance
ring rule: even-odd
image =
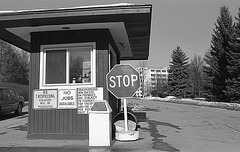
[[[76,89],[58,90],[58,109],[76,109]]]

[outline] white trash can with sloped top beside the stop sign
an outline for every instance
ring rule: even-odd
[[[89,111],[89,146],[111,146],[112,109],[106,100],[96,100]]]

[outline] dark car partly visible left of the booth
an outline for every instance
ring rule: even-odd
[[[24,98],[13,88],[0,87],[0,114],[14,112],[16,115],[22,115],[24,106]]]

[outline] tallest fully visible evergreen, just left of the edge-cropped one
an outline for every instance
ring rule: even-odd
[[[205,89],[206,96],[214,101],[228,102],[224,90],[226,90],[226,80],[229,77],[227,69],[227,54],[230,51],[231,36],[234,32],[233,20],[226,6],[220,8],[220,16],[215,23],[213,30],[210,54],[204,60],[206,66]]]

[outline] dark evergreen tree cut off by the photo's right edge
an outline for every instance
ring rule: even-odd
[[[231,50],[227,55],[229,79],[226,81],[225,95],[230,102],[240,103],[240,8],[236,21],[235,31],[230,42]]]

